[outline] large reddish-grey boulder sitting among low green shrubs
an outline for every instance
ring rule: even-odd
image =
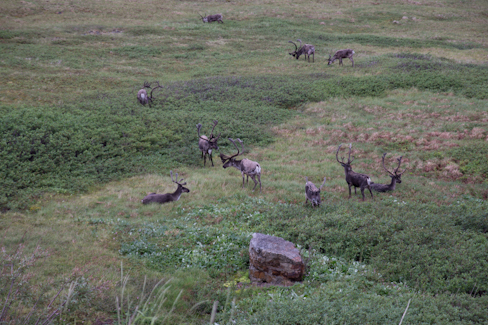
[[[249,245],[249,278],[253,283],[292,285],[305,272],[295,245],[280,237],[254,233]]]

